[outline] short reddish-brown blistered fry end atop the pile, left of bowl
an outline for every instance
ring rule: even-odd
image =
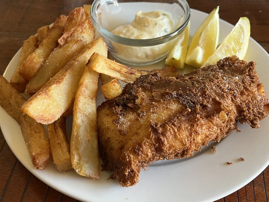
[[[73,9],[67,18],[64,32],[69,32],[71,29],[82,23],[87,15],[82,7]]]

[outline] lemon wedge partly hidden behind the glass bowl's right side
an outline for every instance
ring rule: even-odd
[[[175,66],[176,68],[184,68],[189,43],[189,32],[190,22],[186,26],[185,30],[179,35],[175,43],[176,45],[172,48],[164,62],[165,64]]]

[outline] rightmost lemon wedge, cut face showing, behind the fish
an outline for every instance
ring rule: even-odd
[[[217,61],[225,57],[236,55],[240,60],[243,60],[250,37],[250,23],[249,19],[242,17],[233,27],[232,31],[222,41],[217,50],[208,57],[207,61],[202,65],[216,64]]]

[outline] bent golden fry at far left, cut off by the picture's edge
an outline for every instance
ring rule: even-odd
[[[24,114],[20,108],[26,99],[3,76],[0,76],[0,105],[21,126],[22,134],[36,169],[43,169],[50,157],[44,126]]]

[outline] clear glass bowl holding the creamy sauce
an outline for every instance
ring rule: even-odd
[[[129,39],[111,33],[118,26],[131,24],[139,10],[168,12],[178,27],[169,34],[153,39]],[[97,32],[107,43],[109,52],[117,60],[129,65],[149,65],[165,58],[174,46],[176,38],[190,20],[190,7],[185,0],[95,0],[91,7],[91,18]]]

